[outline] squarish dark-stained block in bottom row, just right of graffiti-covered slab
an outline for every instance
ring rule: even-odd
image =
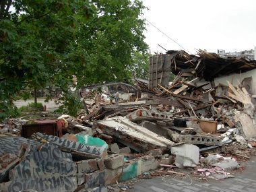
[[[104,170],[97,170],[96,172],[86,173],[85,178],[86,178],[86,183],[85,183],[86,189],[105,185]]]

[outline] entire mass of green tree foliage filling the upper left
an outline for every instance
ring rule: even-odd
[[[69,91],[131,76],[133,55],[144,53],[143,4],[138,0],[3,0],[0,3],[0,109],[26,88],[55,86],[63,108],[77,113]]]

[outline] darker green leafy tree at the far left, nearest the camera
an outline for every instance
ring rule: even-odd
[[[71,73],[81,69],[83,63],[73,61],[86,56],[76,54],[75,40],[94,5],[82,0],[1,1],[0,5],[0,109],[5,117],[25,88],[59,84],[61,76],[71,80]]]

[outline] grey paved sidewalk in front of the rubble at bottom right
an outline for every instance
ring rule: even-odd
[[[256,192],[256,158],[253,158],[251,162],[248,162],[246,169],[243,172],[234,174],[235,178],[223,179],[220,181],[193,181],[189,184],[189,179],[186,179],[187,183],[183,180],[177,179],[177,181],[169,180],[171,183],[177,185],[171,185],[165,183],[161,177],[154,179],[143,179],[135,183],[134,189],[131,192],[203,192],[203,191],[225,191],[225,192]],[[168,181],[168,179],[166,179]]]

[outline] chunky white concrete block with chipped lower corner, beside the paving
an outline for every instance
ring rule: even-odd
[[[176,155],[175,165],[179,168],[195,166],[199,163],[199,148],[191,144],[171,147],[171,153]]]

